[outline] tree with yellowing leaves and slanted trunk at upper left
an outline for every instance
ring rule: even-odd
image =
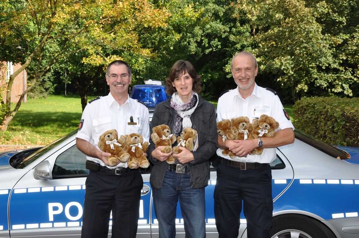
[[[0,9],[0,58],[22,63],[7,84],[2,130],[7,129],[24,95],[54,64],[79,52],[87,52],[88,57],[81,61],[92,67],[121,58],[109,57],[113,50],[150,54],[139,43],[136,27],[164,26],[167,17],[166,12],[153,9],[146,0],[5,0]],[[14,78],[31,64],[31,81],[11,110]]]

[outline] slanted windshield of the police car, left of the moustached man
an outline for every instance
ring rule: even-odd
[[[69,139],[70,137],[72,137],[73,135],[75,135],[77,133],[78,129],[73,130],[72,132],[70,132],[69,134],[65,135],[64,137],[61,137],[60,139],[57,139],[56,141],[48,144],[45,147],[42,147],[41,149],[39,149],[37,152],[31,154],[29,157],[21,157],[20,160],[18,160],[16,162],[16,164],[14,164],[14,168],[25,168],[26,166],[28,166],[29,164],[31,164],[32,162],[34,162],[37,158],[41,157],[43,154],[47,153],[48,151],[50,151],[52,148],[55,148],[56,146],[58,146],[59,144],[61,144],[62,142],[66,141],[67,139]],[[10,164],[11,164],[11,160],[12,157],[10,159]]]

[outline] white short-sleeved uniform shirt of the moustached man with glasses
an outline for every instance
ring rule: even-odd
[[[128,124],[131,122],[131,116],[136,125]],[[90,142],[97,149],[99,149],[97,143],[100,135],[111,129],[117,130],[118,137],[138,133],[143,136],[144,141],[149,141],[150,138],[148,109],[137,100],[130,98],[128,94],[126,102],[121,106],[115,101],[111,93],[87,104],[81,117],[81,124],[76,138]],[[87,156],[87,159],[106,166],[98,158]],[[120,162],[116,167],[127,167],[127,162]]]

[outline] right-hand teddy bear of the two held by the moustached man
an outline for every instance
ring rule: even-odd
[[[143,142],[142,135],[138,133],[131,133],[126,135],[125,151],[130,154],[129,160],[127,160],[127,166],[129,168],[136,168],[137,162],[141,168],[147,168],[150,166],[147,158],[143,155],[148,150],[148,142]]]

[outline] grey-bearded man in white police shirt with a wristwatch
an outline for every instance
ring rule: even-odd
[[[276,158],[275,147],[294,142],[294,127],[279,97],[255,83],[258,66],[249,52],[240,52],[232,59],[232,75],[237,89],[218,100],[217,122],[248,116],[250,122],[260,115],[272,116],[279,122],[274,137],[233,141],[218,135],[217,154],[229,148],[236,158],[226,156],[217,168],[214,190],[214,213],[219,238],[237,238],[242,210],[247,220],[248,238],[266,238],[272,226],[272,174],[269,163]],[[248,155],[263,147],[261,155]]]

